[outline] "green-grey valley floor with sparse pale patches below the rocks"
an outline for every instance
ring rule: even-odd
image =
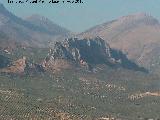
[[[0,75],[0,119],[158,120],[159,85],[155,76],[110,68]]]

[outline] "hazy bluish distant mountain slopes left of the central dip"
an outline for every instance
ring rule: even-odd
[[[35,22],[36,21],[36,22]],[[59,36],[67,37],[70,31],[62,28],[45,17],[33,15],[23,20],[10,13],[0,4],[0,47],[16,44],[34,47],[46,47]]]

